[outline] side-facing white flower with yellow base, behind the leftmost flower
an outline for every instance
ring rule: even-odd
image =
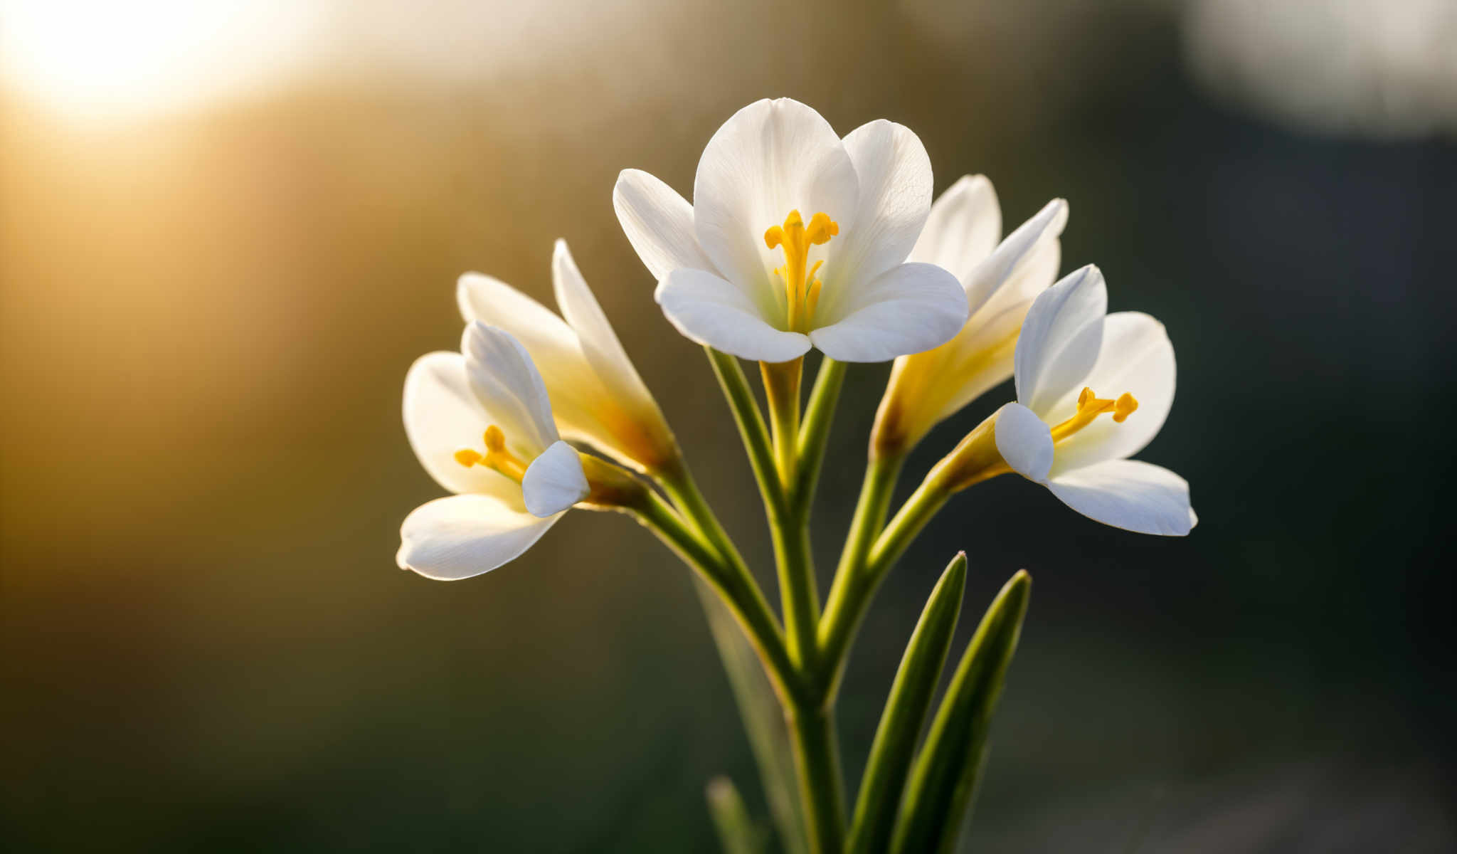
[[[552,289],[562,318],[504,281],[466,273],[456,300],[466,324],[506,329],[530,353],[551,393],[557,424],[573,440],[661,471],[679,456],[657,401],[577,270],[565,240],[552,252]]]

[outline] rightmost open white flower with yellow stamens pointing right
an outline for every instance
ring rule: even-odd
[[[1017,402],[995,415],[997,450],[1090,519],[1139,533],[1189,533],[1198,523],[1189,484],[1126,459],[1152,440],[1173,405],[1173,344],[1148,315],[1106,312],[1107,287],[1093,265],[1037,297],[1017,341]]]

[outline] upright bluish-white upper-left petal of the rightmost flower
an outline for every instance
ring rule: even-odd
[[[1088,264],[1042,291],[1017,338],[1017,402],[1045,415],[1093,369],[1103,340],[1107,286]]]

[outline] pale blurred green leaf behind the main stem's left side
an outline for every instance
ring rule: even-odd
[[[790,746],[784,711],[774,697],[774,686],[763,673],[758,653],[749,646],[718,595],[698,576],[694,576],[694,590],[698,592],[698,600],[708,616],[708,630],[728,675],[728,686],[739,705],[749,748],[759,765],[759,781],[769,804],[769,815],[779,832],[779,848],[785,854],[803,854],[809,835],[794,771],[794,751]]]

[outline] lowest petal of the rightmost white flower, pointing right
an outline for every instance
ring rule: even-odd
[[[1088,519],[1125,530],[1183,536],[1198,522],[1189,482],[1147,462],[1094,463],[1052,478],[1048,488]]]

